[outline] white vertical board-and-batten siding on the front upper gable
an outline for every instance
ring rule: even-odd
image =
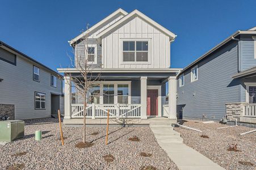
[[[125,39],[148,39],[150,41],[149,63],[122,63],[121,41]],[[169,68],[170,66],[169,37],[138,16],[130,19],[110,34],[104,36],[102,38],[102,49],[104,55],[104,68],[157,69]]]

